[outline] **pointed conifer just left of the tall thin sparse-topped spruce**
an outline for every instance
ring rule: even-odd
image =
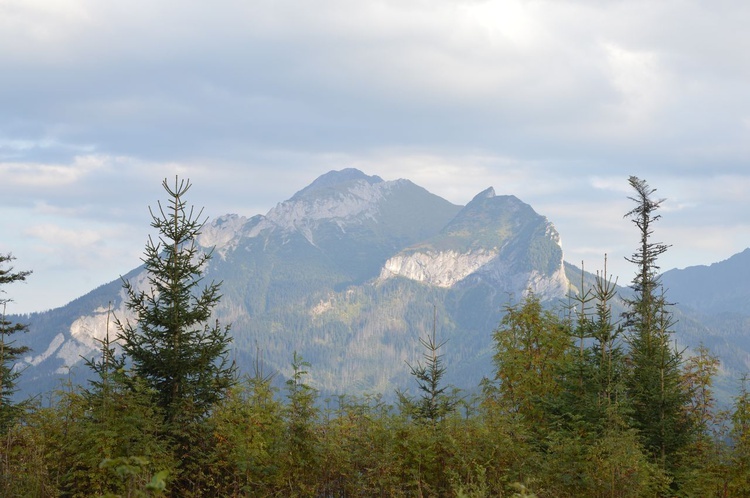
[[[539,476],[552,496],[648,495],[659,486],[659,473],[637,431],[627,425],[622,327],[612,318],[617,291],[606,257],[589,290],[583,291],[581,280],[573,326],[579,341],[561,364],[559,394],[548,398],[555,423],[545,434],[548,448]]]

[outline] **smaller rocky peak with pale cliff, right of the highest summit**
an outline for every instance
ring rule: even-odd
[[[568,280],[557,231],[530,206],[492,188],[438,234],[386,261],[379,280],[405,277],[443,288],[491,283],[505,293],[563,296]]]

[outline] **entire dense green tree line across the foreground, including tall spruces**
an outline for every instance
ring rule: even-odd
[[[3,321],[2,496],[750,496],[750,391],[732,408],[712,394],[718,361],[675,349],[652,240],[662,201],[631,177],[626,216],[641,236],[627,312],[613,316],[606,271],[559,309],[526,296],[495,330],[494,371],[477,393],[446,385],[450,347],[421,339],[416,393],[321,399],[314,365],[294,355],[278,387],[240,377],[227,326],[211,323],[219,284],[201,287],[202,221],[166,182],[149,288],[125,282],[135,319],[113,318],[94,380],[46,403],[13,406]],[[0,259],[7,263],[9,257]],[[27,273],[6,269],[0,284]],[[3,280],[5,278],[5,280]],[[114,346],[120,342],[121,349]],[[8,374],[11,374],[10,376]]]

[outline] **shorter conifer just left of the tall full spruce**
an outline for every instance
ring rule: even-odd
[[[163,481],[175,466],[152,393],[128,375],[110,342],[110,313],[97,339],[101,357],[84,359],[94,374],[89,386],[71,386],[56,407],[57,418],[69,422],[59,434],[60,460],[68,467],[59,469],[63,495],[145,496],[139,491],[152,476]]]

